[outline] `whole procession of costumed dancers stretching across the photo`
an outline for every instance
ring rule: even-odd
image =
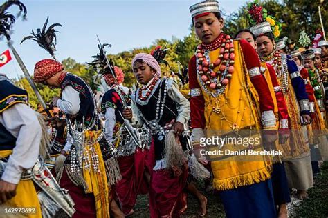
[[[38,200],[38,188],[26,176],[47,135],[44,161],[73,199],[73,217],[133,215],[138,195],[148,195],[150,217],[180,217],[188,194],[197,197],[203,217],[207,204],[217,202],[199,192],[197,179],[217,190],[226,217],[287,217],[291,190],[307,198],[327,161],[328,41],[288,49],[273,17],[254,13],[262,10],[253,3],[253,25],[230,36],[222,31],[217,1],[190,6],[201,43],[190,58],[188,92],[162,76],[152,54],[132,60],[134,90],[104,59],[103,92],[59,61],[38,61],[34,82],[60,89],[51,117],[38,109],[46,129],[28,106],[28,93],[0,75],[0,208],[55,215],[57,210],[49,212],[55,203]],[[283,155],[203,155],[217,146],[204,148],[201,141],[217,136],[258,138],[261,145],[247,149]],[[226,143],[219,149],[245,147]]]

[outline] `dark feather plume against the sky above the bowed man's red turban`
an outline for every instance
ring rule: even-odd
[[[21,43],[24,41],[30,39],[33,41],[36,41],[41,48],[44,48],[53,59],[56,60],[55,58],[55,50],[56,50],[56,44],[57,44],[57,37],[56,37],[56,31],[54,28],[56,26],[62,27],[62,24],[60,23],[53,23],[51,26],[46,28],[48,24],[49,17],[47,17],[46,22],[44,23],[44,26],[41,29],[37,28],[37,32],[34,32],[32,30],[32,35],[28,37],[24,37],[24,39],[21,40]]]

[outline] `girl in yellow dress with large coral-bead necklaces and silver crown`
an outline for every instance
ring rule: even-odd
[[[243,39],[233,41],[222,33],[224,21],[217,1],[194,4],[190,12],[202,41],[190,59],[188,72],[196,155],[203,161],[204,152],[242,154],[245,148],[261,150],[256,143],[246,147],[226,143],[222,149],[206,145],[205,142],[218,138],[259,139],[257,130],[276,130],[277,126],[271,92],[260,72],[254,48]],[[260,113],[255,106],[258,103],[254,102],[255,95],[259,97]],[[266,139],[273,143],[276,138],[270,135]],[[213,155],[210,158],[215,177],[213,186],[219,190],[227,217],[275,217],[271,162],[266,157]]]

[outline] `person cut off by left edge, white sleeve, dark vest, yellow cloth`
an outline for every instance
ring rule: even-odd
[[[26,179],[26,170],[37,161],[41,137],[37,115],[28,106],[28,93],[0,74],[0,211],[35,208],[34,213],[41,217],[33,181]]]

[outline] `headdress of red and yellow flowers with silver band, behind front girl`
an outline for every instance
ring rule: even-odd
[[[280,36],[282,28],[281,23],[277,22],[274,17],[268,15],[268,11],[260,6],[258,1],[248,3],[248,20],[252,26],[250,31],[253,33],[264,34],[266,32],[273,32],[275,38]],[[266,28],[266,22],[270,24],[271,31]],[[255,34],[255,36],[259,34]]]

